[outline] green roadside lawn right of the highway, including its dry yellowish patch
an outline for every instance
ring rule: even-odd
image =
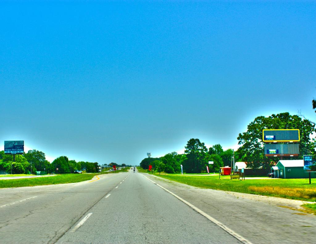
[[[157,176],[202,188],[243,192],[311,202],[316,201],[316,179],[312,179],[312,184],[309,185],[308,179],[230,180],[230,178],[221,176],[221,179],[219,180],[218,176],[179,176],[172,174]]]

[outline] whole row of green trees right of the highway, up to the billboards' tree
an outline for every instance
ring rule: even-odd
[[[315,156],[316,148],[316,128],[315,124],[307,119],[301,119],[298,115],[289,113],[272,114],[271,116],[258,116],[247,126],[247,131],[238,135],[240,148],[223,150],[220,144],[216,144],[209,149],[197,138],[190,139],[185,146],[184,154],[176,152],[168,153],[160,158],[145,158],[140,163],[144,169],[152,165],[156,171],[166,173],[201,173],[206,171],[206,166],[210,171],[218,172],[220,167],[230,166],[234,154],[235,162],[246,162],[248,168],[270,169],[272,165],[280,160],[279,157],[268,158],[264,153],[264,143],[262,141],[262,131],[264,129],[299,129],[300,130],[300,154],[297,157],[283,157],[284,160],[302,159],[303,155]],[[208,164],[214,161],[214,164]],[[316,166],[315,166],[316,167]]]

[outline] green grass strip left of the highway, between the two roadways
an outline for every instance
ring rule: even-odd
[[[85,180],[91,180],[95,175],[97,174],[59,174],[49,177],[0,180],[0,188],[75,183]]]

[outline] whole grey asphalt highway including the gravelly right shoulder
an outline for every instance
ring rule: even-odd
[[[132,171],[0,189],[0,243],[314,243],[297,201],[248,195]]]

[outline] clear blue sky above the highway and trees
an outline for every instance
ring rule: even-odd
[[[1,2],[0,141],[138,164],[237,148],[260,115],[315,120],[315,2]],[[0,149],[3,149],[1,145]]]

